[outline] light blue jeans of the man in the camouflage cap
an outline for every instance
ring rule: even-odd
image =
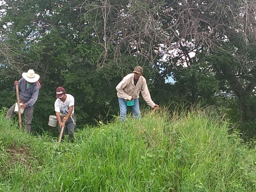
[[[118,98],[119,109],[120,109],[120,116],[119,119],[121,121],[125,121],[127,106],[126,100],[123,98]],[[140,104],[139,99],[134,99],[134,105],[132,107],[132,117],[133,118],[140,118]]]

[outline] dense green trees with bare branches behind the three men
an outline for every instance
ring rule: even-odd
[[[54,91],[76,100],[77,122],[117,114],[115,86],[144,68],[160,105],[224,106],[250,133],[255,126],[254,0],[4,0],[0,12],[1,106],[13,81],[33,68],[42,89],[35,122],[47,124]],[[175,83],[166,83],[173,78]]]

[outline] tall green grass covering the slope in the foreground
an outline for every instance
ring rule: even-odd
[[[0,191],[256,191],[256,149],[214,115],[146,114],[60,145],[13,124],[0,113]]]

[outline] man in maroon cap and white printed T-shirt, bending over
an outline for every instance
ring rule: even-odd
[[[64,135],[68,129],[68,141],[73,143],[73,136],[75,132],[76,117],[74,115],[75,99],[72,95],[66,94],[63,87],[56,89],[56,101],[54,103],[55,113],[59,122],[59,133],[61,127],[64,127],[61,140],[64,140]]]

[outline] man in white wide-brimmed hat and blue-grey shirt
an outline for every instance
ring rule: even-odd
[[[16,85],[19,87],[20,105],[21,109],[24,109],[22,116],[24,118],[24,124],[27,129],[27,133],[30,133],[31,122],[33,118],[34,105],[38,98],[39,93],[39,80],[40,76],[34,72],[33,69],[29,69],[27,73],[22,73],[22,78],[19,81],[14,81],[13,91],[16,92]],[[38,83],[37,83],[38,82]],[[11,119],[15,115],[15,104],[8,109],[6,118]]]

